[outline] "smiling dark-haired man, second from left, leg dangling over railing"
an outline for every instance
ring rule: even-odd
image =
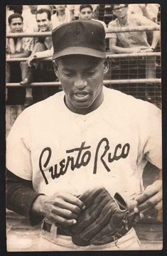
[[[48,9],[39,9],[38,11],[36,11],[36,23],[38,26],[38,32],[52,31],[50,11]],[[41,52],[45,50],[50,50],[50,48],[52,48],[52,38],[50,36],[34,38],[34,47],[30,57],[26,62],[21,62],[21,68],[23,70],[23,80],[20,82],[21,85],[28,85],[29,83],[31,83],[34,80],[34,70],[37,69],[38,78],[42,79],[42,81],[45,81],[45,79],[47,78],[47,70],[53,69],[52,63],[47,63],[47,65],[45,63],[40,63],[37,61],[31,63],[30,60],[36,58],[38,53],[40,55]],[[45,70],[44,73],[43,70]],[[37,87],[34,87],[32,89],[29,88],[29,90],[29,105],[31,105],[33,100],[34,102],[37,102],[38,100],[42,100],[45,97],[44,87],[42,88],[42,91],[40,88]]]

